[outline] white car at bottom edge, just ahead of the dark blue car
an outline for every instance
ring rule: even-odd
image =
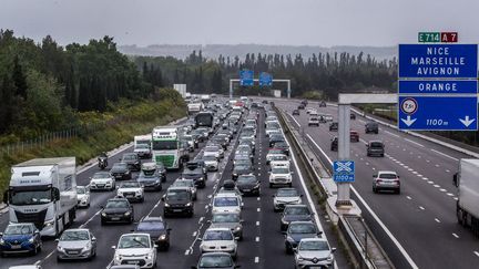
[[[125,234],[120,237],[113,265],[142,265],[140,268],[156,267],[156,246],[149,234]]]

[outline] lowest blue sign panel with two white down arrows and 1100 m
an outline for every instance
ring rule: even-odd
[[[414,131],[477,131],[477,96],[399,96],[398,127]]]

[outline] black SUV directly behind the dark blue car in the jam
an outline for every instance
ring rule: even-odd
[[[191,218],[194,216],[193,195],[188,187],[169,187],[162,200],[165,218],[172,215],[186,215]]]

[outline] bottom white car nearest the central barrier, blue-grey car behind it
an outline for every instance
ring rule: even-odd
[[[324,238],[302,239],[295,249],[295,268],[334,268],[334,252]]]

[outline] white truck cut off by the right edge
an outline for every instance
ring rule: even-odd
[[[453,184],[458,187],[456,215],[458,223],[470,227],[479,236],[479,159],[461,158],[459,170],[453,176]]]

